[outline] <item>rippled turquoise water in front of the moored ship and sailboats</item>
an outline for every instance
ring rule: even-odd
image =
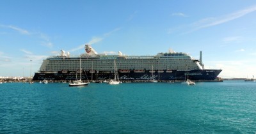
[[[0,133],[256,133],[256,82],[0,84]]]

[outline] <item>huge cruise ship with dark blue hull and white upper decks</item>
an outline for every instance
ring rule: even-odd
[[[82,80],[215,80],[221,72],[204,68],[202,51],[200,59],[194,59],[171,49],[156,56],[98,54],[90,45],[84,49],[84,54],[77,57],[64,50],[59,56],[47,57],[33,80],[76,80],[80,72]]]

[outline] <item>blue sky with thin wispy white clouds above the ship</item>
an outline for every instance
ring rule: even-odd
[[[29,77],[60,50],[186,52],[222,78],[256,77],[255,0],[3,0],[0,77]],[[32,61],[31,61],[32,60]]]

